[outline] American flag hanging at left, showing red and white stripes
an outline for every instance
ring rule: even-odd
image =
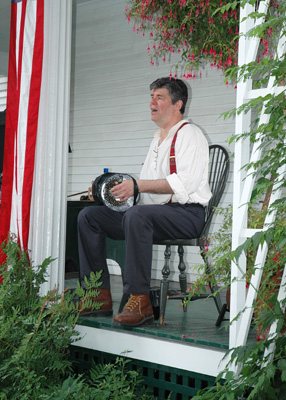
[[[44,0],[12,0],[0,240],[14,233],[24,250],[29,239],[43,36]]]

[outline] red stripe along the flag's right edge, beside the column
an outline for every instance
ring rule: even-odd
[[[22,237],[23,248],[27,249],[30,224],[31,197],[35,165],[35,149],[38,129],[38,114],[42,81],[43,45],[44,45],[44,0],[37,1],[37,22],[35,32],[34,54],[30,97],[28,106],[27,141],[22,200]]]

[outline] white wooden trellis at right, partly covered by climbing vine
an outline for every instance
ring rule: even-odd
[[[270,1],[261,1],[259,5],[259,13],[266,14],[269,7]],[[246,33],[252,29],[255,25],[259,25],[263,22],[262,18],[254,22],[249,18],[249,14],[254,11],[254,6],[247,4],[244,8],[241,8],[240,15],[240,32]],[[257,58],[258,48],[260,39],[246,38],[241,36],[239,40],[239,65],[247,64],[251,61],[255,61]],[[286,42],[285,38],[282,37],[277,47],[277,57],[282,57],[285,53]],[[258,96],[265,96],[266,94],[278,94],[285,90],[285,87],[274,86],[274,77],[270,77],[268,85],[264,89],[252,89],[252,80],[248,79],[245,82],[239,82],[237,85],[237,107],[246,103],[250,99],[257,98]],[[267,123],[269,120],[269,114],[264,113],[264,109],[260,115],[259,124]],[[236,135],[239,135],[250,130],[251,122],[251,111],[247,114],[239,114],[236,116]],[[241,245],[246,238],[252,236],[256,231],[247,228],[247,214],[248,205],[251,193],[254,187],[254,177],[251,170],[246,172],[242,169],[243,165],[259,160],[261,157],[261,150],[259,145],[261,138],[257,137],[256,142],[250,152],[250,145],[247,140],[240,140],[235,145],[235,161],[234,161],[234,191],[233,191],[233,231],[232,231],[232,248],[235,249]],[[285,168],[279,170],[280,176],[285,175]],[[274,188],[275,189],[275,188]],[[275,199],[281,197],[280,190],[273,190],[271,195],[269,206],[275,201]],[[267,215],[265,225],[272,222],[275,219],[275,214],[271,213]],[[256,257],[255,265],[257,267],[255,274],[252,277],[250,289],[246,297],[246,282],[243,278],[246,271],[246,256],[242,254],[239,258],[238,266],[232,263],[232,279],[234,279],[231,285],[231,310],[230,320],[232,321],[242,310],[243,313],[237,320],[234,320],[230,327],[230,348],[245,344],[249,333],[250,322],[253,314],[252,304],[256,299],[257,290],[260,285],[262,271],[267,256],[267,246],[264,245],[259,249]],[[282,289],[283,282],[285,280],[285,274],[281,282],[281,288],[279,291],[279,300],[281,301],[283,296],[285,297],[285,291]],[[271,332],[274,327],[271,328]]]

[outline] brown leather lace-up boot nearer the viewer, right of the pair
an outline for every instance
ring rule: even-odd
[[[153,308],[148,294],[131,294],[122,313],[114,316],[114,324],[122,326],[140,326],[153,321]]]

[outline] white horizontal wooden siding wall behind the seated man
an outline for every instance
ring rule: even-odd
[[[138,177],[156,125],[150,120],[149,84],[169,76],[171,61],[151,66],[145,37],[125,19],[124,0],[76,0],[73,9],[71,112],[68,193],[81,192],[107,167]],[[234,121],[219,115],[235,107],[235,90],[215,68],[187,81],[185,117],[198,125],[210,144],[226,145]],[[222,205],[232,202],[232,177]],[[78,200],[78,197],[72,197]],[[153,277],[160,276],[163,248],[154,248]],[[175,257],[177,263],[177,256]],[[198,249],[188,251],[201,263]],[[177,273],[173,274],[174,279]]]

